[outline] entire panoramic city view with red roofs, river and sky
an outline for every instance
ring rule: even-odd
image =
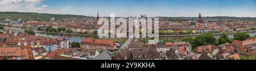
[[[255,0],[2,0],[0,8],[0,60],[256,60]]]

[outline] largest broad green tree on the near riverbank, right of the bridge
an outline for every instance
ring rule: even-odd
[[[193,39],[195,46],[216,45],[217,39],[211,33],[203,33]]]

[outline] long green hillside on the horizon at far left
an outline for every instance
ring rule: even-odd
[[[0,19],[22,19],[27,20],[44,20],[49,21],[51,17],[55,20],[64,18],[84,18],[82,15],[59,15],[59,14],[39,14],[34,12],[0,12]]]

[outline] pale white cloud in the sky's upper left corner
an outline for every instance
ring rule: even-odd
[[[40,12],[46,10],[44,0],[0,0],[0,11]]]

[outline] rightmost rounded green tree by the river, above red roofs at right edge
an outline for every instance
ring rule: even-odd
[[[239,41],[245,41],[245,39],[249,38],[250,35],[247,33],[236,33],[234,34],[234,39],[237,39]]]

